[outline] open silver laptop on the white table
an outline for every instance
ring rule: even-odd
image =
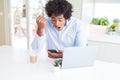
[[[64,49],[61,69],[93,66],[97,46],[67,47]]]

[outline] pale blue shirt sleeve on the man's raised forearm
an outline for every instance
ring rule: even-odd
[[[31,47],[33,50],[39,50],[41,51],[46,43],[46,37],[44,36],[38,36],[38,34],[35,34],[35,37],[31,43]]]

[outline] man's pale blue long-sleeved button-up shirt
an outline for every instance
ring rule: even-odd
[[[53,26],[51,19],[48,18],[43,36],[35,35],[32,49],[41,50],[46,41],[48,49],[55,50],[63,50],[64,47],[86,46],[87,36],[83,27],[80,20],[71,17],[63,29],[58,31]]]

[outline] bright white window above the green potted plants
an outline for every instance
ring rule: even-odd
[[[95,17],[108,17],[110,22],[113,19],[120,19],[120,3],[95,3]]]

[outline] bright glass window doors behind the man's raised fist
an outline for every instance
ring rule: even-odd
[[[11,0],[12,46],[30,48],[36,32],[36,18],[44,15],[46,0]]]

